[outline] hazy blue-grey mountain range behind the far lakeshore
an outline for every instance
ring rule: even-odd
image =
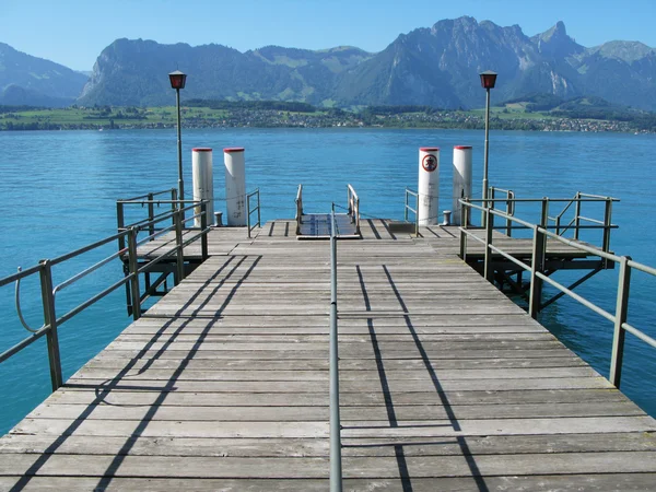
[[[656,49],[613,40],[587,48],[562,22],[529,37],[518,25],[469,16],[399,35],[383,51],[267,46],[241,52],[222,45],[163,45],[117,39],[90,77],[0,44],[0,103],[171,105],[166,77],[189,74],[183,98],[301,101],[318,106],[481,107],[478,73],[499,72],[493,98],[553,94],[598,96],[656,110]]]

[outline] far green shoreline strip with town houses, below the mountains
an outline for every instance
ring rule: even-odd
[[[277,106],[284,103],[277,104]],[[437,110],[409,107],[365,107],[359,110],[312,106],[284,110],[237,104],[230,108],[184,106],[184,128],[436,128],[483,129],[482,110]],[[255,105],[257,106],[257,105]],[[0,113],[0,130],[120,130],[173,128],[175,108],[77,107],[60,109],[7,108]],[[14,109],[14,110],[11,110]],[[21,110],[22,109],[22,110]],[[409,110],[405,110],[409,109]],[[495,108],[490,128],[525,131],[581,131],[653,133],[654,127],[635,120],[554,117],[540,113]]]

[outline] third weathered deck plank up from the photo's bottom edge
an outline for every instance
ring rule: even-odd
[[[0,454],[68,454],[133,456],[328,456],[328,440],[300,438],[210,438],[210,437],[112,437],[10,434],[0,441]],[[465,441],[422,437],[350,440],[343,456],[396,456],[402,446],[405,456],[515,455],[600,452],[656,452],[656,436],[647,433],[553,434],[512,436],[469,436]]]

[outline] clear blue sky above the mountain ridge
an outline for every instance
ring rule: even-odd
[[[0,0],[0,42],[91,70],[120,37],[239,51],[266,45],[379,51],[401,33],[460,15],[519,24],[529,36],[563,21],[584,46],[623,39],[656,47],[656,0]]]

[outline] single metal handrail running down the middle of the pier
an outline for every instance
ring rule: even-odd
[[[330,492],[342,490],[339,354],[337,339],[337,221],[330,212]]]

